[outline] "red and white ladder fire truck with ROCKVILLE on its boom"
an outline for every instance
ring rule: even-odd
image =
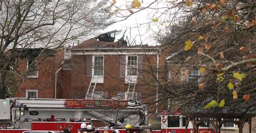
[[[93,124],[93,121],[116,123],[121,133],[125,132],[123,127],[126,124],[131,124],[134,127],[133,132],[139,132],[139,125],[145,122],[145,116],[145,106],[127,100],[1,99],[0,133],[63,131],[69,124],[73,125],[72,133],[77,133],[81,123]],[[96,130],[104,131],[103,127]]]

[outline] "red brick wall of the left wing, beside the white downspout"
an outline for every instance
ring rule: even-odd
[[[55,72],[60,68],[62,60],[59,59],[63,59],[63,55],[63,50],[59,50],[55,56],[39,57],[38,61],[43,61],[38,64],[38,77],[24,79],[19,85],[15,97],[25,98],[26,90],[38,90],[38,98],[55,98]],[[19,60],[17,70],[21,75],[26,71],[26,62],[26,58]]]

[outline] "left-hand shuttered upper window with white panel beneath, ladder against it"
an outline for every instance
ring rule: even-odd
[[[92,56],[92,78],[93,82],[103,83],[104,82],[104,56]]]

